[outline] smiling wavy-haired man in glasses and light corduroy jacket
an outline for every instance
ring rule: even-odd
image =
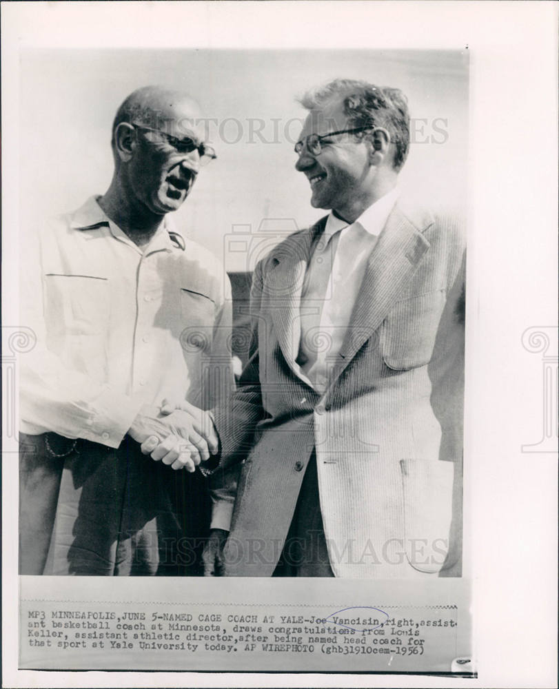
[[[457,575],[463,237],[398,197],[398,89],[336,80],[302,102],[295,167],[329,214],[254,271],[252,356],[214,415],[214,480],[241,471],[206,570]]]

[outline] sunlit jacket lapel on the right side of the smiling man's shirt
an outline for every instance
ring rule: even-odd
[[[398,204],[369,256],[363,285],[349,320],[332,380],[336,380],[372,334],[414,273],[418,261],[430,247],[420,229],[432,223],[431,216],[418,218],[417,224],[403,214]],[[418,229],[418,227],[420,229]]]

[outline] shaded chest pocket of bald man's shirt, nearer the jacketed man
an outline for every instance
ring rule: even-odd
[[[201,291],[180,289],[181,345],[187,353],[210,351],[216,317],[216,302]]]

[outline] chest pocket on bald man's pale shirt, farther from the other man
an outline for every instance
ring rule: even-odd
[[[100,335],[110,316],[109,281],[98,275],[45,275],[46,320],[66,336]]]

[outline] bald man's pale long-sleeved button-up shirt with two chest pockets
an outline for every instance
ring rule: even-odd
[[[92,197],[26,248],[21,323],[37,345],[21,356],[21,431],[118,447],[143,404],[208,409],[230,391],[229,280],[171,228],[140,249]]]

